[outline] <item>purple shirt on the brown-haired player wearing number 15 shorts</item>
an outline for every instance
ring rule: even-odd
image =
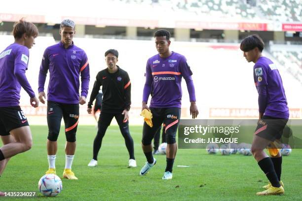
[[[31,98],[35,97],[25,76],[28,61],[28,48],[17,43],[0,53],[0,107],[18,106],[21,86]]]

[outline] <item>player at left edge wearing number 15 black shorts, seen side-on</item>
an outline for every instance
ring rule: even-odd
[[[38,36],[37,27],[30,22],[20,20],[14,24],[15,42],[0,53],[0,174],[9,161],[19,153],[32,147],[32,133],[23,111],[19,106],[21,87],[30,96],[30,103],[38,107],[36,98],[29,84],[25,71],[28,68],[29,49]],[[4,193],[0,192],[0,196]]]

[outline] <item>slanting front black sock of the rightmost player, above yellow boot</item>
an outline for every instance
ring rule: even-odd
[[[277,174],[274,169],[274,165],[269,157],[266,157],[258,162],[259,167],[262,169],[267,179],[270,181],[273,187],[280,187],[280,183]]]

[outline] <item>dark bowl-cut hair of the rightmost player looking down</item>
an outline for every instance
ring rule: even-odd
[[[257,34],[247,36],[240,43],[240,49],[244,52],[248,52],[255,47],[258,47],[260,52],[264,49],[264,42]]]

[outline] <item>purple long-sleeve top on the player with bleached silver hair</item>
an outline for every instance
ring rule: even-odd
[[[38,92],[44,91],[48,70],[50,78],[47,100],[78,103],[79,75],[81,75],[81,96],[87,97],[90,79],[89,63],[84,50],[74,43],[67,49],[62,42],[46,48],[39,71]]]

